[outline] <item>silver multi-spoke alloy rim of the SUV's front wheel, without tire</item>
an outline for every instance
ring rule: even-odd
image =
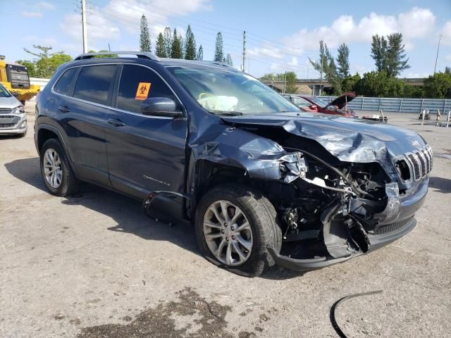
[[[242,265],[252,253],[252,228],[245,213],[230,201],[216,201],[204,215],[204,238],[223,264]]]

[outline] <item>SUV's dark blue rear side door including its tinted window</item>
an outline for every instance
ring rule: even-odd
[[[106,186],[108,177],[105,118],[111,104],[118,65],[87,65],[78,70],[73,93],[58,103],[56,122],[67,140],[70,159],[80,177]],[[57,89],[58,82],[54,87]]]

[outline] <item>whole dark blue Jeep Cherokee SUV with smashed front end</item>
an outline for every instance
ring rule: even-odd
[[[221,63],[118,54],[62,65],[37,99],[51,194],[91,182],[190,220],[209,261],[248,276],[340,263],[416,225],[433,154],[415,132],[301,113]]]

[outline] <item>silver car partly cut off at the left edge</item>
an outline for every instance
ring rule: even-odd
[[[0,83],[0,135],[17,134],[24,137],[27,133],[27,115],[25,108]]]

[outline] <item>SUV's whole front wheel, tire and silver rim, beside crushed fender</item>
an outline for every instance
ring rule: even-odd
[[[197,242],[212,263],[238,275],[258,276],[274,265],[267,246],[280,251],[276,211],[257,190],[238,184],[214,187],[200,201]]]

